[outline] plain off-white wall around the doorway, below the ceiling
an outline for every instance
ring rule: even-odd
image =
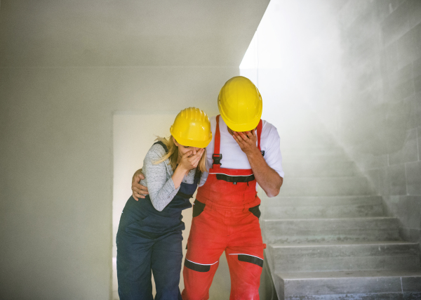
[[[0,68],[1,296],[109,299],[113,112],[198,106],[212,115],[238,72]]]

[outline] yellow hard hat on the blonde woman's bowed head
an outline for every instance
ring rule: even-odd
[[[183,146],[206,148],[212,140],[208,115],[195,107],[179,112],[170,132]]]

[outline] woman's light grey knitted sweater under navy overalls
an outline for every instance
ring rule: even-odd
[[[173,178],[171,178],[174,172],[171,169],[170,160],[166,159],[160,164],[154,164],[165,154],[163,147],[155,144],[143,159],[142,171],[145,179],[140,181],[140,184],[147,187],[152,205],[157,211],[162,211],[180,190],[180,187],[175,188]],[[196,169],[189,171],[182,182],[194,183],[194,174],[196,174]]]

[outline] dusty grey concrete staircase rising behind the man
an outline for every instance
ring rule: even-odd
[[[399,220],[385,216],[382,198],[354,162],[326,136],[295,145],[282,148],[286,178],[279,196],[260,193],[272,294],[421,299],[420,246],[401,240]]]

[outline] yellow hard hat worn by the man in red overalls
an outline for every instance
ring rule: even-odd
[[[222,119],[234,131],[249,131],[258,126],[262,117],[262,96],[250,79],[232,77],[218,96],[218,108]]]

